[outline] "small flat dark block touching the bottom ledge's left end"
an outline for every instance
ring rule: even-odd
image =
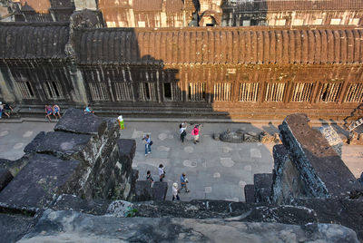
[[[93,215],[106,213],[111,200],[108,199],[81,199],[75,195],[62,194],[49,208],[55,210],[75,210]]]

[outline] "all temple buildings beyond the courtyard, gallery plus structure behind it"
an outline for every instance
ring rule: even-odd
[[[23,21],[0,24],[0,98],[19,113],[57,102],[128,116],[362,114],[361,1],[5,2]],[[49,17],[34,22],[30,7]]]

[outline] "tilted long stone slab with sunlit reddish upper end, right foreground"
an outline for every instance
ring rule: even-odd
[[[279,126],[282,142],[313,197],[344,197],[361,190],[354,175],[306,114],[289,115]]]

